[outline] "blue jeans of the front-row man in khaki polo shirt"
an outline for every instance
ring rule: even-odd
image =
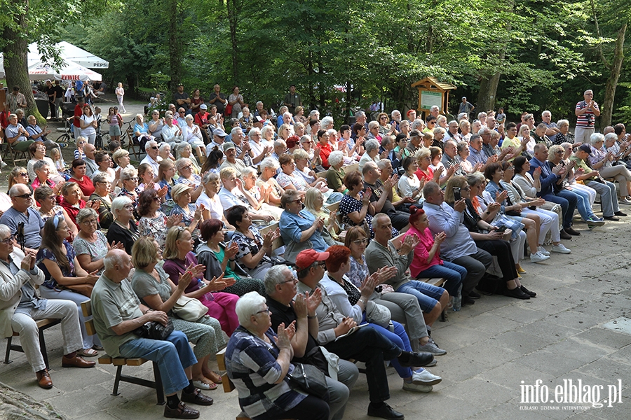
[[[118,351],[125,358],[146,358],[158,363],[165,395],[172,395],[189,386],[184,369],[197,363],[182,331],[173,331],[165,340],[137,338],[122,344]]]

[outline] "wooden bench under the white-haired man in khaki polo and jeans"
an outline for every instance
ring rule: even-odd
[[[81,311],[83,311],[83,316],[86,318],[88,316],[92,316],[92,302],[90,302],[90,300],[86,300],[85,302],[81,303]],[[88,335],[96,334],[94,321],[92,319],[86,321],[86,331],[88,332]],[[100,365],[116,366],[116,378],[114,379],[114,389],[111,391],[111,395],[119,395],[118,384],[120,384],[121,382],[128,382],[129,384],[136,384],[140,386],[147,386],[147,388],[154,388],[156,390],[158,405],[163,405],[165,403],[164,389],[162,387],[162,377],[160,376],[158,363],[145,358],[111,357],[107,354],[100,356],[98,360]],[[123,374],[123,366],[141,366],[147,362],[151,362],[154,365],[153,381]]]

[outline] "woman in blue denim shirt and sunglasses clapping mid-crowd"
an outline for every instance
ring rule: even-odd
[[[302,209],[302,200],[295,190],[286,190],[280,198],[280,206],[285,209],[280,216],[280,236],[285,242],[285,260],[294,262],[300,251],[315,249],[324,252],[327,244],[322,237],[325,218],[315,218]]]

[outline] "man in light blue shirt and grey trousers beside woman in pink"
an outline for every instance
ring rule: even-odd
[[[457,201],[452,209],[445,203],[445,193],[435,182],[425,184],[423,197],[423,210],[427,214],[430,230],[434,235],[439,232],[447,235],[440,244],[440,256],[467,269],[467,276],[462,283],[462,303],[473,304],[473,298],[480,297],[473,288],[493,262],[493,257],[487,251],[477,248],[469,230],[462,223],[465,200]]]

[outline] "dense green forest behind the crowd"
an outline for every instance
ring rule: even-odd
[[[65,40],[110,62],[109,87],[170,92],[212,85],[275,106],[290,84],[304,104],[339,118],[347,107],[416,105],[410,85],[435,76],[478,111],[503,106],[574,118],[585,89],[601,123],[631,121],[624,0],[0,0],[7,30],[43,45]],[[25,9],[19,6],[24,5]],[[18,11],[15,11],[15,8]],[[8,16],[7,16],[8,14]],[[13,16],[13,22],[11,18]],[[17,17],[17,18],[16,18]],[[28,26],[30,25],[30,26]],[[22,26],[23,27],[23,26]],[[610,103],[609,103],[610,102]],[[611,114],[613,113],[613,116]]]

